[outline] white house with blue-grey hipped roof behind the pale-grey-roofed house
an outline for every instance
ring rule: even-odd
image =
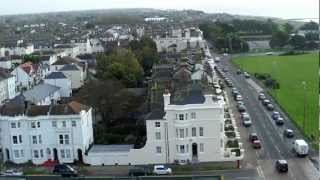
[[[62,72],[50,73],[44,78],[44,83],[60,87],[59,92],[61,97],[72,96],[71,80],[68,79]]]

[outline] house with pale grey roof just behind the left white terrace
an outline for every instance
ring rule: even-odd
[[[51,84],[38,84],[23,93],[27,101],[36,105],[50,105],[60,100],[60,87]]]

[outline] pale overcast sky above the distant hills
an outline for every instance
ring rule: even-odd
[[[141,7],[281,18],[319,17],[319,0],[1,0],[0,15]]]

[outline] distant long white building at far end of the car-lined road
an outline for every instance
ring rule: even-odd
[[[172,30],[170,36],[156,37],[154,41],[158,52],[180,52],[187,48],[205,49],[206,46],[202,31],[197,28]]]

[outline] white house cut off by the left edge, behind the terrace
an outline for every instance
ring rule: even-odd
[[[0,68],[0,104],[16,96],[15,76]]]

